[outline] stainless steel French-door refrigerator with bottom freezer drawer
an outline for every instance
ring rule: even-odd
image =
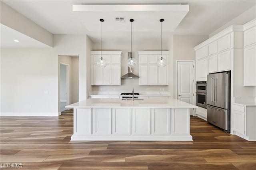
[[[207,121],[230,132],[230,71],[207,75]]]

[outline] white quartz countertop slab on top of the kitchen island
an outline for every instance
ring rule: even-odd
[[[86,99],[66,106],[66,108],[198,108],[177,99],[145,99],[126,101],[121,99]]]

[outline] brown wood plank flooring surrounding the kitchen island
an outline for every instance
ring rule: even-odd
[[[71,113],[70,113],[71,112]],[[193,141],[70,141],[72,110],[60,117],[0,117],[0,162],[45,170],[256,170],[256,142],[191,117]]]

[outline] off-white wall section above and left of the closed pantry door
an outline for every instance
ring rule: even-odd
[[[195,60],[194,47],[205,40],[208,36],[200,35],[173,35],[173,94],[176,96],[176,60]]]

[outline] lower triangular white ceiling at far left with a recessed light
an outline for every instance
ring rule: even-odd
[[[0,24],[0,30],[0,47],[49,47],[3,24]],[[14,42],[14,40],[19,40],[20,42]]]

